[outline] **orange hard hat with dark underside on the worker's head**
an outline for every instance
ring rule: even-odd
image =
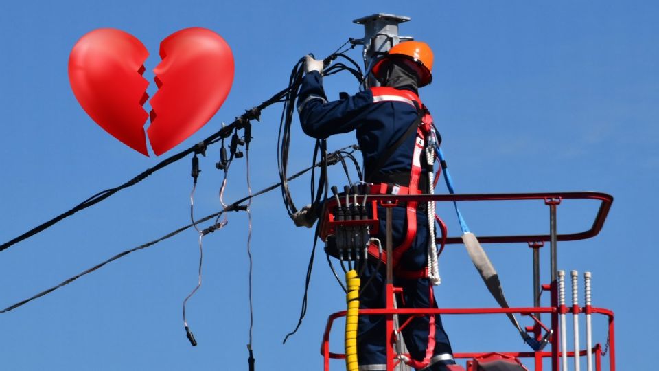
[[[389,50],[386,56],[375,63],[371,72],[383,82],[387,80],[391,66],[396,65],[415,76],[419,87],[424,87],[432,81],[432,50],[428,44],[421,41],[406,41]]]

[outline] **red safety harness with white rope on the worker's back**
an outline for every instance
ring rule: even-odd
[[[426,106],[423,105],[419,96],[412,91],[408,90],[399,90],[392,87],[372,87],[371,92],[373,93],[373,103],[380,102],[403,102],[414,106],[415,109],[419,112],[417,119],[412,122],[410,127],[407,129],[406,133],[402,135],[397,142],[389,146],[386,153],[382,155],[376,164],[370,166],[369,168],[369,177],[366,181],[370,182],[373,177],[377,177],[378,171],[384,165],[387,159],[400,147],[400,145],[413,133],[416,133],[415,146],[412,153],[411,159],[411,170],[409,174],[408,186],[400,186],[397,183],[376,183],[371,186],[371,194],[422,194],[421,187],[426,188],[426,185],[422,184],[422,164],[421,158],[422,155],[426,155],[426,165],[427,166],[427,181],[428,192],[432,193],[434,188],[434,174],[433,174],[433,164],[435,160],[435,146],[438,144],[437,134],[435,133],[434,126],[432,125],[432,116]],[[404,177],[406,178],[406,177]],[[425,179],[424,179],[425,180]],[[397,246],[393,251],[393,267],[397,273],[397,276],[402,278],[414,279],[414,278],[430,278],[433,284],[439,284],[439,269],[437,265],[437,248],[435,246],[435,203],[429,202],[426,211],[428,212],[428,230],[430,233],[430,238],[428,238],[428,265],[426,268],[421,269],[420,271],[405,271],[402,269],[398,262],[403,254],[411,247],[414,238],[417,234],[417,201],[409,201],[406,204],[406,220],[407,220],[407,231],[403,242]],[[379,258],[384,263],[387,261],[387,256],[384,254],[380,247],[371,243],[368,247],[369,254],[375,258]]]

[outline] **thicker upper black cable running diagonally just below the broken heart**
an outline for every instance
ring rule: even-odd
[[[98,192],[97,194],[94,194],[93,196],[89,197],[89,199],[82,201],[82,203],[79,203],[70,210],[63,212],[62,214],[54,218],[51,218],[49,221],[46,221],[45,223],[42,223],[41,225],[38,225],[30,229],[29,231],[21,234],[20,236],[12,238],[12,240],[7,241],[6,243],[3,243],[2,245],[0,245],[0,251],[8,249],[8,247],[16,243],[19,243],[22,240],[25,240],[27,238],[34,236],[35,234],[43,232],[45,229],[51,227],[55,223],[62,221],[62,219],[65,219],[73,214],[76,214],[76,212],[79,212],[80,210],[84,210],[87,207],[95,205],[96,203],[99,203],[100,201],[107,199],[109,196],[112,196],[113,194],[119,192],[124,188],[135,186],[135,184],[139,183],[140,181],[143,181],[144,179],[146,179],[146,177],[152,175],[154,172],[157,172],[161,168],[164,168],[165,166],[168,166],[180,159],[183,159],[183,157],[189,155],[190,153],[198,152],[201,148],[205,150],[205,148],[210,144],[214,144],[220,141],[224,137],[229,137],[229,135],[231,135],[234,129],[244,127],[246,124],[249,124],[250,120],[258,120],[261,111],[263,109],[266,109],[268,106],[272,104],[281,102],[281,100],[286,96],[289,90],[290,88],[287,87],[286,89],[279,91],[278,93],[273,95],[270,99],[266,100],[262,104],[259,104],[258,106],[255,106],[253,109],[249,109],[248,111],[246,111],[246,113],[244,113],[243,115],[236,117],[236,119],[233,122],[231,122],[231,124],[224,126],[223,128],[220,129],[220,131],[217,131],[213,135],[207,137],[202,142],[199,142],[198,144],[195,144],[194,146],[187,148],[186,150],[182,150],[181,152],[176,153],[175,155],[167,157],[167,159],[164,159],[155,166],[152,166],[151,168],[144,170],[143,172],[139,173],[137,176],[133,177],[129,181],[126,181],[126,183],[123,183],[122,185],[117,186],[115,188],[108,188],[107,190]]]

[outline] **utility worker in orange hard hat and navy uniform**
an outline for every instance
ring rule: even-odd
[[[378,193],[392,190],[405,190],[409,194],[428,193],[429,169],[419,166],[418,161],[423,163],[425,155],[418,149],[417,137],[422,126],[428,131],[432,122],[428,122],[430,114],[418,98],[418,89],[432,80],[431,69],[432,50],[426,43],[400,43],[372,69],[381,87],[328,102],[321,76],[323,61],[307,56],[297,104],[302,129],[318,139],[356,131],[364,159],[365,180],[373,183],[371,190],[379,190]],[[380,209],[378,214],[384,215],[382,207]],[[297,219],[296,224],[304,224],[304,216]],[[385,221],[380,219],[380,235],[377,237],[384,245]],[[394,284],[403,289],[402,295],[397,295],[399,308],[437,308],[426,269],[428,238],[435,236],[428,233],[425,204],[417,207],[416,203],[410,202],[393,207]],[[369,286],[362,288],[360,308],[385,306],[385,265],[380,264],[378,269],[377,260],[378,256],[369,259],[362,273],[362,282],[368,282],[371,276],[373,279]],[[401,318],[400,323],[405,320]],[[359,316],[359,370],[386,370],[385,326],[382,315]],[[448,370],[448,365],[455,364],[439,315],[415,317],[402,333],[412,358],[409,364],[417,370],[444,371]]]

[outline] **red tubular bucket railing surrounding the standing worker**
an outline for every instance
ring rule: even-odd
[[[391,283],[391,280],[388,280],[386,284],[386,293],[388,298],[386,300],[386,308],[379,309],[360,309],[360,315],[384,315],[386,317],[387,326],[386,328],[389,331],[388,337],[393,339],[393,318],[395,315],[485,315],[485,314],[507,314],[514,313],[518,315],[524,315],[531,317],[535,324],[533,326],[528,326],[525,328],[528,333],[533,334],[537,340],[542,339],[542,330],[548,330],[551,328],[553,335],[550,337],[549,346],[550,350],[538,350],[535,352],[524,352],[524,351],[512,351],[512,352],[498,352],[502,355],[508,355],[518,358],[532,358],[534,359],[535,371],[542,371],[544,359],[551,359],[551,371],[560,371],[561,368],[561,358],[565,355],[565,358],[571,358],[575,361],[575,368],[579,368],[579,359],[581,357],[588,357],[588,371],[591,371],[591,364],[594,365],[594,370],[601,371],[603,365],[603,356],[608,354],[608,370],[615,371],[615,336],[614,336],[614,314],[612,311],[606,308],[597,308],[590,305],[590,273],[587,273],[588,279],[586,284],[586,289],[588,291],[586,297],[586,305],[579,307],[573,305],[568,307],[564,302],[559,303],[559,282],[557,269],[557,242],[559,241],[574,241],[574,240],[585,240],[587,238],[592,238],[597,236],[601,231],[606,216],[610,210],[611,204],[613,202],[613,197],[609,194],[601,192],[544,192],[544,193],[505,193],[505,194],[419,194],[419,195],[393,195],[393,194],[380,194],[380,195],[371,195],[369,196],[371,202],[377,201],[381,205],[392,206],[397,203],[404,203],[409,201],[418,201],[418,202],[453,202],[453,201],[543,201],[543,204],[549,207],[549,233],[548,234],[522,234],[522,235],[500,235],[500,236],[479,236],[478,240],[481,243],[527,243],[529,247],[533,248],[533,282],[534,282],[534,293],[533,293],[533,306],[531,307],[518,307],[518,308],[427,308],[427,309],[418,309],[418,308],[393,308],[393,292],[395,288]],[[562,201],[565,200],[592,200],[599,201],[599,209],[597,210],[594,220],[589,229],[586,229],[582,232],[570,233],[570,234],[559,234],[557,233],[557,207],[561,205]],[[390,207],[387,209],[390,210]],[[391,213],[387,212],[387,218],[391,218]],[[391,225],[391,220],[388,221]],[[438,239],[438,243],[439,243]],[[540,284],[540,254],[538,252],[539,248],[545,242],[551,244],[551,258],[550,258],[550,269],[551,269],[551,282],[549,284]],[[446,238],[447,244],[458,244],[462,243],[462,238],[459,236],[449,236]],[[391,252],[391,251],[390,251]],[[388,271],[391,271],[388,269]],[[575,288],[573,287],[573,290]],[[540,306],[540,295],[542,293],[548,293],[550,295],[550,306]],[[392,300],[389,300],[391,296]],[[327,326],[325,327],[325,333],[323,334],[323,341],[321,344],[321,355],[324,358],[324,370],[329,371],[329,360],[330,359],[344,359],[345,354],[340,352],[332,352],[329,349],[329,335],[332,330],[332,324],[334,320],[340,317],[345,317],[345,311],[340,311],[333,313],[329,316],[327,320]],[[551,326],[545,326],[540,322],[540,315],[542,313],[547,313],[551,318]],[[573,351],[561,351],[562,341],[561,341],[561,328],[559,328],[559,319],[562,315],[572,315],[573,318],[583,313],[590,320],[590,315],[603,315],[608,319],[608,328],[607,328],[607,344],[604,348],[601,344],[597,343],[592,345],[592,348],[581,349],[579,344],[575,344],[575,350]],[[576,319],[575,319],[576,321]],[[405,326],[405,324],[402,324]],[[576,327],[576,326],[575,326]],[[587,325],[590,328],[590,324]],[[576,334],[575,334],[576,335]],[[576,336],[575,336],[576,337]],[[588,334],[590,337],[590,334]],[[589,341],[590,342],[590,341]],[[387,341],[387,370],[393,371],[398,366],[400,362],[400,357],[397,357],[395,354],[395,348],[392,344],[392,341]],[[564,348],[566,349],[566,348]],[[482,357],[490,354],[491,352],[459,352],[454,354],[454,358],[457,359],[467,359],[467,371],[475,370],[474,364],[470,359]],[[590,360],[590,357],[594,358],[594,362]],[[563,371],[567,371],[566,368],[563,368]]]

